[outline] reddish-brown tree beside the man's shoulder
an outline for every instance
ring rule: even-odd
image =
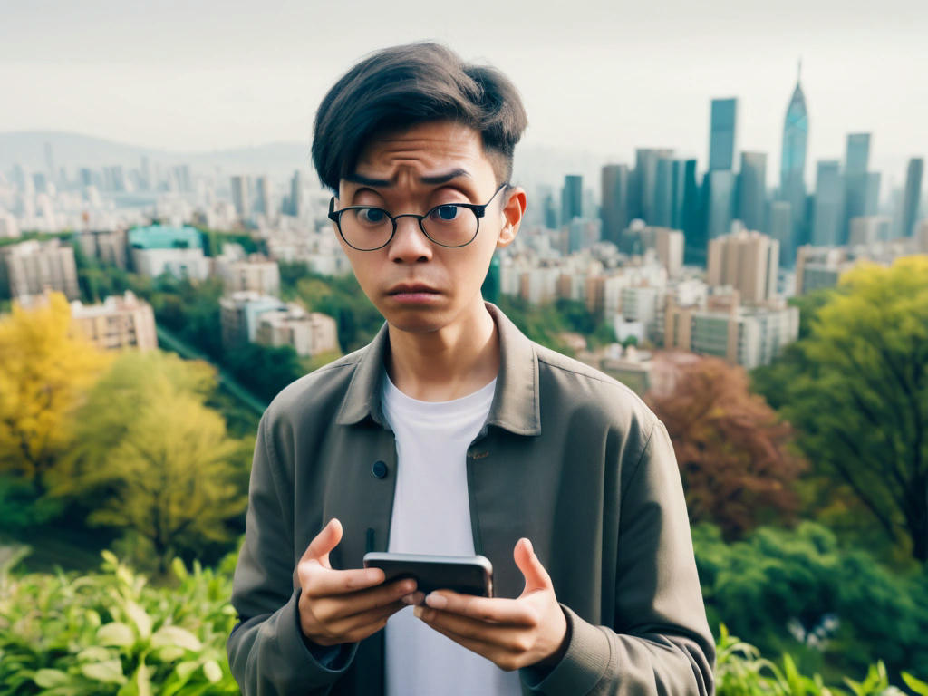
[[[690,519],[715,522],[730,539],[789,516],[803,464],[789,451],[790,427],[748,392],[744,370],[695,356],[664,366],[672,386],[645,398],[674,443]]]

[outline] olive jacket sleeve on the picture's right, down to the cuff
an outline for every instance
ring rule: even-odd
[[[715,692],[715,639],[693,557],[690,522],[673,445],[659,420],[622,495],[612,626],[563,607],[569,630],[561,662],[523,692],[686,694]],[[533,679],[535,677],[535,679]]]

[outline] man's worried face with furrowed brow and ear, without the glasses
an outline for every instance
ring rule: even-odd
[[[367,144],[354,174],[339,184],[336,209],[369,205],[421,215],[447,203],[482,205],[498,183],[478,131],[456,122],[421,123]],[[426,333],[463,326],[484,311],[480,288],[490,259],[515,237],[524,207],[522,189],[500,191],[464,247],[435,244],[413,217],[399,218],[390,243],[375,251],[339,241],[361,288],[390,325]]]

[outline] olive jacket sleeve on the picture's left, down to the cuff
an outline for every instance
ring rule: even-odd
[[[334,664],[321,664],[303,641],[293,568],[290,477],[279,468],[268,413],[258,426],[249,485],[245,544],[238,554],[232,605],[238,625],[226,643],[229,666],[244,696],[329,693],[354,660],[354,644]],[[288,497],[288,495],[290,497]]]

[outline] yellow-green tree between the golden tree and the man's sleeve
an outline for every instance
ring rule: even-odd
[[[97,494],[88,518],[131,530],[165,572],[179,550],[225,541],[246,504],[243,443],[203,406],[212,368],[173,354],[123,354],[81,410],[60,496]]]

